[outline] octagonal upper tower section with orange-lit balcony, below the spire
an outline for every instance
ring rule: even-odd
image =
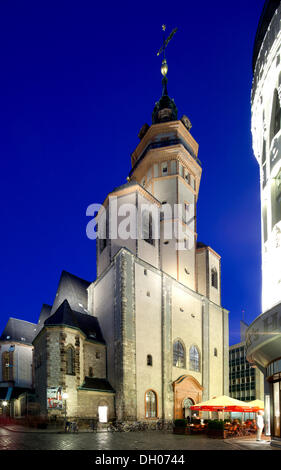
[[[189,119],[178,120],[173,100],[161,100],[156,103],[153,124],[145,125],[139,134],[140,142],[131,156],[130,180],[161,204],[160,269],[196,290],[196,203],[202,173],[199,146],[190,133]]]

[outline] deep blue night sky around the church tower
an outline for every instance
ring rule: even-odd
[[[63,269],[96,276],[86,208],[124,184],[141,126],[168,91],[199,142],[199,240],[222,256],[230,343],[261,309],[252,50],[264,0],[0,3],[1,315],[37,322]]]

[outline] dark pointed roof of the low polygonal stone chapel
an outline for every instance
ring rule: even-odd
[[[70,326],[82,331],[88,339],[105,343],[98,319],[92,315],[73,310],[65,299],[56,312],[44,323],[45,326]]]

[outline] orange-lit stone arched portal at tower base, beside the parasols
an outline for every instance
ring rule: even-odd
[[[182,375],[173,383],[174,388],[174,419],[185,418],[183,404],[192,400],[194,404],[202,401],[203,387],[191,375]]]

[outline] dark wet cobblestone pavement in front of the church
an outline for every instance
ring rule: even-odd
[[[137,433],[14,432],[0,428],[0,450],[276,450],[269,442],[180,436],[161,431]]]

